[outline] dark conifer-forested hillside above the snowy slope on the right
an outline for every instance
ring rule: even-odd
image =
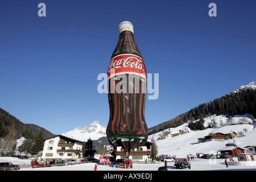
[[[251,114],[253,118],[256,117],[256,90],[254,89],[241,90],[237,93],[232,92],[216,100],[201,104],[174,119],[151,127],[149,134],[177,127],[187,121],[195,121],[213,114],[224,114],[229,117],[246,113]]]

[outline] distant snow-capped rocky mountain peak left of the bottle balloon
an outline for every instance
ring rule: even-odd
[[[93,123],[88,126],[82,128],[76,127],[75,129],[61,135],[79,139],[85,142],[89,138],[92,140],[98,140],[102,137],[106,137],[106,126],[101,126],[98,121],[93,121]]]

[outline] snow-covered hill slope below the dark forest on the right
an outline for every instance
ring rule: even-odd
[[[205,154],[215,153],[220,148],[224,148],[226,143],[233,142],[233,140],[209,141],[199,143],[198,138],[204,137],[210,133],[229,133],[234,131],[237,137],[234,138],[237,146],[246,147],[255,145],[256,123],[250,119],[250,114],[237,115],[230,119],[224,115],[213,115],[212,117],[204,118],[204,126],[207,127],[210,122],[216,122],[216,127],[205,130],[191,130],[188,127],[188,122],[175,128],[166,129],[158,133],[148,136],[148,140],[155,140],[158,146],[158,154],[176,155],[176,157],[185,157],[188,154],[196,155],[197,152]]]

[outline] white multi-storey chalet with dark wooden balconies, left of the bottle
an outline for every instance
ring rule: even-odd
[[[84,142],[78,139],[55,135],[44,139],[43,159],[79,159],[82,158]]]

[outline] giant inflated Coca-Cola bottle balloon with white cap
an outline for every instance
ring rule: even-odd
[[[129,158],[131,148],[147,142],[144,117],[147,73],[135,42],[133,24],[119,24],[119,40],[108,68],[110,117],[106,130],[109,142],[121,146]]]

